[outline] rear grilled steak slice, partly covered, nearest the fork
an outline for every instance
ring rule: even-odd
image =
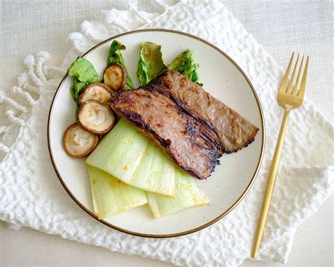
[[[143,88],[173,99],[190,116],[214,130],[226,153],[247,147],[259,130],[232,108],[174,70],[166,71]]]

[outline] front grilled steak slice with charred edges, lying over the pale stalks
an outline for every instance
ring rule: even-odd
[[[121,89],[109,103],[119,116],[166,151],[180,168],[197,178],[208,178],[219,163],[222,148],[216,132],[163,94]]]

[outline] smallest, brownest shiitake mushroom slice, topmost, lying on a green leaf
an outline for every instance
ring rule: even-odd
[[[123,88],[126,81],[126,73],[123,66],[113,63],[106,67],[103,73],[103,80],[113,91]]]

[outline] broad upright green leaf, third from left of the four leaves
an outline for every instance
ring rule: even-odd
[[[147,85],[166,68],[167,66],[163,63],[160,45],[151,42],[140,44],[140,60],[137,68],[140,85]]]

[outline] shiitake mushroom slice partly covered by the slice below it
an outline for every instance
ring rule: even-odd
[[[108,85],[105,85],[102,82],[93,82],[88,85],[79,97],[79,105],[85,103],[88,100],[96,100],[105,104],[111,97],[113,91],[109,88]]]

